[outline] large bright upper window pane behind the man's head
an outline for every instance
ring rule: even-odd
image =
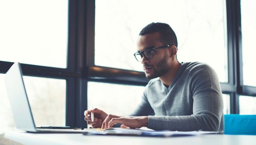
[[[207,63],[221,82],[228,81],[225,0],[96,0],[95,12],[96,65],[142,71],[133,56],[139,32],[163,22],[177,35],[180,62]]]

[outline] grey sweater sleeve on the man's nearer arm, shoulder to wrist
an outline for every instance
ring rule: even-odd
[[[189,78],[193,114],[190,116],[148,116],[148,128],[172,131],[221,131],[223,99],[217,74],[211,67],[204,64],[191,71]]]

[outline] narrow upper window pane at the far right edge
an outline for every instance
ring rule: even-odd
[[[241,29],[244,85],[256,86],[255,33],[256,10],[255,0],[241,0]]]

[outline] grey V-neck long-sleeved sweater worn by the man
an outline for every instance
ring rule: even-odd
[[[207,64],[182,63],[168,88],[159,78],[148,82],[130,116],[148,116],[148,128],[153,130],[223,132],[218,76]]]

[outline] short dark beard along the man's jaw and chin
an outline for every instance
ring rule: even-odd
[[[169,70],[167,60],[168,60],[168,55],[165,54],[163,59],[161,59],[159,62],[157,62],[157,64],[154,65],[156,67],[154,67],[154,71],[152,72],[152,75],[146,75],[146,78],[152,79],[152,78],[157,78],[166,74],[167,71]]]

